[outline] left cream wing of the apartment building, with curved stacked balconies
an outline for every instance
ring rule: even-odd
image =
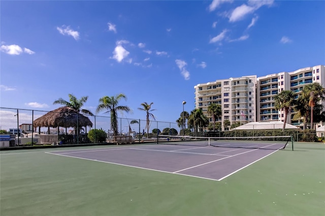
[[[208,106],[220,104],[222,116],[220,123],[228,119],[234,122],[256,121],[256,75],[243,76],[202,83],[194,86],[196,89],[196,108],[207,114]],[[208,116],[210,121],[212,117]]]

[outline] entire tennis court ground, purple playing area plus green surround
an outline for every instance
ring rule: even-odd
[[[323,215],[324,144],[175,144],[0,151],[0,214]]]

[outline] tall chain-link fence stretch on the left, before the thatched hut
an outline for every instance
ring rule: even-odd
[[[85,117],[89,122],[85,121]],[[41,120],[40,120],[41,119]],[[62,127],[46,127],[60,122]],[[36,126],[37,125],[37,126]],[[26,146],[34,144],[82,144],[90,143],[88,133],[98,129],[106,133],[106,142],[113,142],[111,117],[64,113],[58,111],[42,111],[14,108],[0,108],[0,130],[2,134],[11,134],[10,143],[2,138],[0,146]],[[172,129],[172,130],[170,130]],[[178,135],[180,129],[176,122],[164,122],[134,118],[117,118],[117,135],[132,136],[136,141],[154,139],[157,134],[170,133]],[[96,133],[96,130],[95,130]],[[96,136],[96,134],[95,134]]]

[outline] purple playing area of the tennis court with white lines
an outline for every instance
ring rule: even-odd
[[[177,143],[171,142],[176,145],[164,142],[166,144],[47,153],[172,174],[222,180],[283,148],[283,144],[279,142],[232,142],[221,141],[218,147],[213,147],[206,145],[206,142],[202,140],[195,142],[185,140]]]

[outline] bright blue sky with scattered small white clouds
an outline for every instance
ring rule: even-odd
[[[0,4],[1,107],[53,110],[74,94],[95,113],[123,93],[128,118],[153,102],[157,120],[175,122],[199,83],[325,64],[324,1]]]

